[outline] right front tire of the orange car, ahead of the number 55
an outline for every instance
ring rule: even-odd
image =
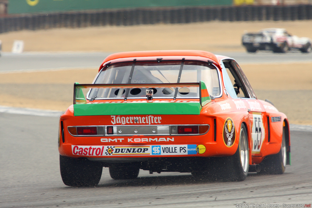
[[[260,163],[261,171],[264,174],[283,174],[285,172],[286,156],[286,136],[283,128],[282,144],[280,152],[275,155],[269,155]]]

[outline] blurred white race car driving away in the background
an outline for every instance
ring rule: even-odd
[[[311,43],[309,38],[292,36],[281,28],[247,32],[242,36],[242,44],[248,52],[269,50],[275,53],[286,53],[290,49],[298,49],[303,53],[310,53],[312,51]]]

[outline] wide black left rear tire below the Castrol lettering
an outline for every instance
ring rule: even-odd
[[[99,162],[60,155],[61,177],[66,186],[96,186],[100,182],[102,170]]]

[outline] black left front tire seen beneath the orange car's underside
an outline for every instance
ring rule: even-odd
[[[139,175],[140,166],[136,163],[118,163],[109,167],[109,170],[112,179],[135,179]]]

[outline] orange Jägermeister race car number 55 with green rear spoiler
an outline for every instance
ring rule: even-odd
[[[74,85],[60,117],[67,186],[139,170],[243,181],[290,164],[285,114],[258,100],[237,62],[206,51],[136,51],[105,58],[93,84]]]

